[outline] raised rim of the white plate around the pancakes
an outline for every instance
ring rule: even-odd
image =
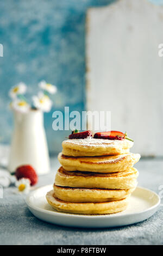
[[[44,214],[48,214],[48,215],[58,215],[58,216],[64,216],[64,217],[73,217],[73,218],[117,218],[117,217],[128,217],[128,216],[136,216],[136,215],[140,215],[142,213],[145,213],[145,212],[148,212],[148,211],[151,211],[153,209],[156,209],[158,208],[158,206],[160,205],[160,202],[161,202],[161,199],[159,197],[159,195],[152,191],[152,190],[149,190],[148,188],[145,188],[145,187],[140,187],[140,186],[137,186],[137,188],[139,189],[142,189],[142,190],[146,190],[146,191],[149,191],[149,192],[152,192],[155,197],[158,199],[158,202],[156,204],[154,204],[153,206],[149,207],[148,209],[146,210],[143,210],[143,211],[139,211],[139,212],[135,212],[135,213],[129,213],[129,214],[124,214],[124,215],[110,215],[110,214],[104,214],[104,215],[84,215],[84,214],[69,214],[68,212],[57,212],[57,211],[49,211],[49,210],[46,210],[46,209],[41,209],[35,205],[32,205],[29,203],[29,198],[31,196],[33,196],[33,194],[37,191],[37,190],[40,190],[41,188],[45,188],[45,187],[48,187],[48,186],[52,186],[53,187],[53,184],[49,184],[49,185],[45,185],[45,186],[41,186],[41,187],[38,187],[38,188],[35,188],[34,191],[31,191],[27,196],[26,196],[26,204],[28,206],[28,208],[32,208],[36,211],[39,211],[39,212],[42,212]]]

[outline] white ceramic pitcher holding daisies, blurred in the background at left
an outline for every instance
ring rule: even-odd
[[[38,175],[49,172],[49,155],[43,113],[30,109],[27,113],[14,111],[14,132],[9,156],[9,172],[22,164],[33,166]]]

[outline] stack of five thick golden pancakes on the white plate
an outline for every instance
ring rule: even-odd
[[[87,137],[62,142],[61,163],[47,201],[58,211],[74,214],[112,214],[127,208],[139,175],[133,165],[139,154],[127,139]]]

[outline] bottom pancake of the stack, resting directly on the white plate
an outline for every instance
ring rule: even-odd
[[[47,192],[47,202],[57,211],[72,214],[114,214],[126,210],[129,197],[122,200],[104,203],[71,203],[55,197],[54,191]]]

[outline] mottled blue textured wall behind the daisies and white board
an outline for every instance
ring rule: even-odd
[[[52,112],[85,108],[85,14],[114,0],[5,0],[0,2],[0,138],[9,143],[12,114],[8,90],[23,81],[36,93],[44,79],[58,86],[45,115],[49,150],[56,153],[68,132],[52,130]],[[158,2],[155,1],[155,2]],[[160,1],[159,1],[160,2]]]

